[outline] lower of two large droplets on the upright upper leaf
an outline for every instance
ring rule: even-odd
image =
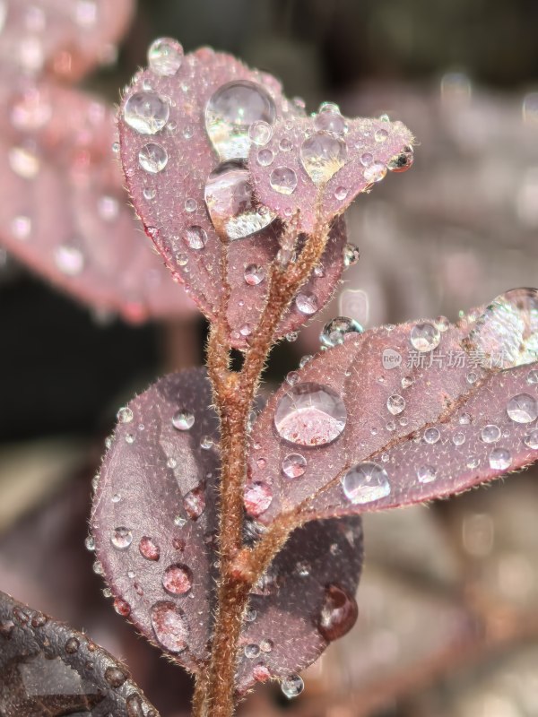
[[[204,198],[214,228],[230,239],[265,229],[275,216],[256,203],[250,175],[237,162],[223,162],[207,177]]]

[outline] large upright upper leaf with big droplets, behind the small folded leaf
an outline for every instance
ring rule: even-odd
[[[134,77],[119,117],[127,186],[170,271],[210,319],[221,307],[224,249],[219,233],[230,239],[228,320],[234,345],[244,347],[264,306],[265,277],[279,249],[282,225],[252,195],[245,168],[248,126],[234,129],[216,118],[221,117],[216,110],[211,113],[213,105],[207,106],[220,101],[220,112],[237,113],[243,101],[250,123],[256,117],[294,121],[299,109],[283,98],[273,77],[210,48],[184,57],[178,43],[157,40],[149,62],[150,68]],[[227,97],[222,88],[232,81],[238,84]],[[315,304],[308,313],[291,307],[279,335],[303,324],[331,296],[343,269],[344,242],[340,224],[321,269],[310,279]]]

